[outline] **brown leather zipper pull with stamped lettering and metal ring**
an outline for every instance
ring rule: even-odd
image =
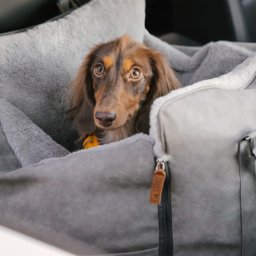
[[[162,191],[164,187],[164,180],[166,172],[165,161],[157,158],[156,160],[156,170],[154,171],[153,182],[151,186],[149,202],[151,204],[159,205],[161,202]]]

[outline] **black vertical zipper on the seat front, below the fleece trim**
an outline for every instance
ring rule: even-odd
[[[172,211],[170,198],[170,170],[168,163],[165,163],[166,177],[161,197],[158,205],[159,217],[159,255],[173,255],[173,232],[172,232]]]

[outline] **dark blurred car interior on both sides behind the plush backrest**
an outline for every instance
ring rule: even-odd
[[[66,15],[87,2],[0,0],[0,33]],[[173,44],[197,46],[218,40],[256,42],[255,24],[255,0],[146,0],[146,29]]]

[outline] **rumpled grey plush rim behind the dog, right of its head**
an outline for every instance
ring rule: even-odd
[[[196,51],[192,54],[186,50],[179,50],[182,48],[168,45],[148,32],[144,35],[144,42],[167,56],[183,87],[226,74],[253,54],[253,51],[246,47],[227,41],[210,42],[202,47],[194,47]],[[254,47],[256,51],[256,46]]]

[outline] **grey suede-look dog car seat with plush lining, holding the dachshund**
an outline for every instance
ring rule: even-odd
[[[108,5],[129,8],[123,3]],[[70,53],[55,56],[64,63],[56,77],[71,68],[59,83],[47,69],[51,65],[32,72],[46,59],[29,55],[22,42],[34,45],[46,28],[62,31],[62,24],[63,33],[48,36],[65,41],[73,15],[79,24],[97,6],[91,1],[63,20],[0,37],[0,224],[76,254],[255,254],[256,45],[220,41],[181,50],[143,29],[137,40],[144,35],[145,44],[166,55],[183,88],[155,100],[150,135],[69,153],[63,145],[70,141],[63,138],[72,125],[55,108],[42,106],[65,102],[73,60],[77,66],[81,61],[81,28],[72,27],[72,43],[79,47],[63,44],[60,52]],[[46,58],[55,42],[40,41],[39,56]],[[15,50],[6,51],[7,45]],[[54,88],[62,89],[54,94]],[[44,111],[60,117],[48,127],[49,119],[38,116]],[[155,157],[166,161],[159,205],[149,203]]]

